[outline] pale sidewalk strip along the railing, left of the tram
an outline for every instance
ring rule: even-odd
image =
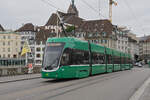
[[[8,82],[16,82],[21,80],[30,80],[40,78],[40,74],[26,74],[26,75],[16,75],[16,76],[5,76],[0,77],[0,84],[1,83],[8,83]]]

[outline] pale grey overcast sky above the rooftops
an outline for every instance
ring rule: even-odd
[[[70,0],[44,0],[66,12]],[[87,6],[86,1],[91,9]],[[127,26],[138,36],[150,35],[150,0],[115,0],[113,24]],[[100,2],[100,3],[99,3]],[[5,29],[17,29],[25,23],[45,25],[50,15],[56,12],[43,0],[0,0],[0,24]],[[87,20],[106,19],[109,16],[109,0],[75,0],[79,16]],[[101,16],[99,16],[99,8]]]

